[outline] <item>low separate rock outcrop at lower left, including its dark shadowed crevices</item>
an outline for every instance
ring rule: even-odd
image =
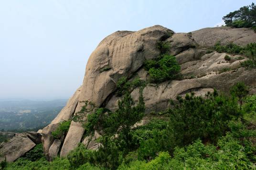
[[[36,144],[41,143],[42,135],[37,132],[15,133],[9,142],[0,144],[0,162],[15,161],[30,151]]]

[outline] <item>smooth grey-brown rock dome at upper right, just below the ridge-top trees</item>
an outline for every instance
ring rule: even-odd
[[[192,38],[203,47],[213,47],[218,41],[223,45],[233,42],[240,46],[256,42],[256,34],[250,28],[203,28],[192,31]]]

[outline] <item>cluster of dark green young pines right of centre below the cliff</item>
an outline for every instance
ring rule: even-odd
[[[227,123],[237,118],[238,111],[234,98],[219,95],[215,90],[207,98],[186,94],[177,97],[178,104],[169,109],[170,131],[178,146],[184,146],[201,138],[216,143],[228,130]]]

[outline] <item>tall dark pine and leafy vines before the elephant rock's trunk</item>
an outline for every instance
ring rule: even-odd
[[[118,108],[115,112],[98,108],[94,113],[88,115],[88,119],[84,123],[85,134],[92,134],[96,126],[100,127],[105,133],[99,141],[102,143],[102,146],[95,152],[94,163],[106,168],[116,169],[122,162],[124,155],[133,148],[132,126],[142,119],[145,112],[145,104],[142,96],[144,86],[141,87],[141,83],[143,82],[138,78],[129,83],[129,88],[139,86],[139,102],[137,105],[135,105],[128,90],[124,90],[125,94],[118,101]],[[121,88],[125,84],[127,84],[126,78],[122,78],[118,81],[117,86]],[[115,134],[118,134],[118,136],[114,138],[113,136]],[[81,155],[81,153],[78,155]],[[74,160],[80,161],[76,157]],[[87,161],[85,158],[81,160]],[[90,160],[90,163],[93,163],[93,159]],[[71,162],[71,165],[81,165],[81,163],[75,162],[73,165]]]

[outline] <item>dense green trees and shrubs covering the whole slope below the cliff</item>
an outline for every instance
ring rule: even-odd
[[[85,135],[99,129],[105,132],[98,139],[103,144],[98,151],[80,144],[67,158],[48,162],[38,145],[5,169],[256,168],[256,95],[248,96],[243,83],[234,85],[230,95],[215,90],[205,97],[179,96],[160,117],[138,127],[133,124],[144,115],[143,98],[140,93],[139,103],[134,104],[127,92],[124,90],[116,112],[95,108],[84,123]]]

